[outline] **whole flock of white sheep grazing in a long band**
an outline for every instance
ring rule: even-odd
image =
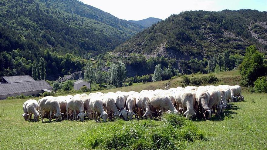
[[[161,112],[183,113],[187,118],[193,116],[210,119],[212,112],[220,115],[224,112],[227,104],[244,97],[241,95],[239,85],[207,85],[207,86],[187,86],[185,88],[177,87],[168,90],[142,90],[139,92],[120,92],[116,93],[90,93],[76,94],[74,96],[47,96],[36,100],[30,99],[23,104],[25,120],[32,118],[38,121],[41,115],[42,122],[44,114],[49,116],[51,122],[52,116],[56,121],[63,118],[69,119],[72,116],[74,120],[79,117],[84,121],[84,117],[94,119],[96,122],[100,118],[106,122],[107,118],[112,120],[114,116],[120,116],[124,120],[143,116],[152,118],[160,115]]]

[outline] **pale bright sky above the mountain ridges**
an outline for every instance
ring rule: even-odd
[[[256,9],[267,11],[267,0],[79,0],[117,18],[141,20],[148,17],[168,18],[189,10],[221,11]]]

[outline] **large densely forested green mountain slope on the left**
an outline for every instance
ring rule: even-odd
[[[77,0],[0,1],[0,10],[0,52],[98,55],[144,28]]]

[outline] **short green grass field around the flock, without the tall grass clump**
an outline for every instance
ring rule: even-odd
[[[238,84],[238,71],[214,74],[218,84]],[[191,76],[191,75],[189,75]],[[200,75],[194,75],[200,76]],[[181,85],[181,78],[124,88],[102,90],[141,91],[143,89],[165,89]],[[255,94],[244,89],[244,102],[233,103],[232,108],[221,117],[211,120],[193,120],[192,125],[204,135],[204,139],[186,142],[183,149],[267,149],[267,94]],[[22,105],[26,99],[0,101],[0,149],[87,149],[86,137],[90,130],[101,132],[109,125],[120,125],[121,121],[101,122],[86,120],[49,123],[27,122],[22,118]],[[144,120],[128,121],[133,123]],[[127,122],[127,123],[128,123]],[[95,134],[97,135],[97,134]],[[83,138],[84,137],[84,138]],[[145,140],[144,140],[145,142]]]

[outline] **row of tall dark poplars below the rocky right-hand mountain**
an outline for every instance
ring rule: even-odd
[[[223,55],[214,55],[208,61],[208,72],[223,72],[230,68],[229,51],[225,51]]]

